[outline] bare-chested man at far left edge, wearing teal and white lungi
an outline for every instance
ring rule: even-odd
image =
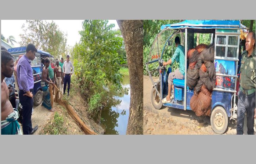
[[[14,72],[14,59],[6,50],[1,50],[1,134],[22,134],[17,121],[19,113],[12,108],[9,101],[9,90],[3,81],[10,78]]]

